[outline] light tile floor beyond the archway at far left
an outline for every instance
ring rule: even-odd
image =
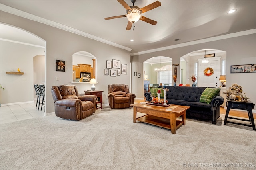
[[[38,106],[36,108],[36,101],[34,103],[1,106],[0,124],[42,117],[44,116],[44,107],[42,111],[40,111],[40,109],[38,110]]]

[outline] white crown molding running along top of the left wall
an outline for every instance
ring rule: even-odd
[[[21,11],[21,10],[17,10],[15,8],[12,8],[10,6],[6,6],[4,4],[1,4],[0,5],[0,10],[1,11],[4,11],[4,12],[8,12],[10,14],[14,14],[16,16],[20,16],[20,17],[23,17],[23,18],[27,18],[29,20],[33,20],[33,21],[37,21],[37,22],[40,22],[40,23],[43,23],[43,24],[46,24],[46,25],[50,25],[52,27],[56,27],[58,29],[62,29],[64,31],[68,31],[68,32],[71,32],[71,33],[75,33],[75,34],[78,34],[78,35],[81,35],[81,36],[84,36],[84,37],[87,37],[87,38],[90,38],[90,39],[94,39],[96,41],[100,41],[102,43],[106,43],[108,45],[112,45],[114,47],[118,47],[120,49],[124,49],[124,50],[127,50],[127,51],[131,51],[132,49],[131,48],[128,48],[128,47],[125,47],[123,45],[120,45],[120,44],[116,44],[116,43],[113,43],[111,41],[108,41],[106,39],[103,39],[103,38],[100,38],[100,37],[96,37],[94,35],[91,35],[89,33],[85,33],[83,31],[80,31],[78,29],[74,29],[72,27],[68,27],[66,25],[62,25],[60,23],[56,23],[54,21],[50,21],[50,20],[47,20],[47,19],[44,19],[44,18],[41,18],[41,17],[38,17],[38,16],[35,16],[33,14],[29,14],[27,12],[24,12],[24,11]]]

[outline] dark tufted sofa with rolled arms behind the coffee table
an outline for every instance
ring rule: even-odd
[[[190,106],[186,111],[186,117],[199,120],[211,120],[216,124],[220,117],[220,105],[224,99],[218,94],[212,99],[210,104],[199,102],[201,94],[206,87],[184,87],[184,86],[167,86],[169,91],[166,92],[166,100],[168,104],[176,104],[182,106]],[[144,94],[146,101],[151,101],[151,93]]]

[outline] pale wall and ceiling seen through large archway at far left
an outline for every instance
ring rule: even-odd
[[[26,30],[11,25],[1,23],[0,27],[1,72],[17,72],[17,68],[24,72],[19,76],[1,74],[1,85],[8,87],[1,93],[2,106],[34,102],[33,60],[35,56],[46,55],[46,41]],[[45,72],[43,71],[42,74]],[[45,79],[43,81],[45,82]],[[19,94],[19,98],[16,97],[17,94]]]

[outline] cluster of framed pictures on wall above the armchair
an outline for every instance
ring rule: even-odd
[[[113,68],[115,68],[113,70]],[[105,75],[111,77],[121,76],[121,74],[127,74],[127,64],[121,64],[120,60],[112,59],[112,61],[106,61]]]

